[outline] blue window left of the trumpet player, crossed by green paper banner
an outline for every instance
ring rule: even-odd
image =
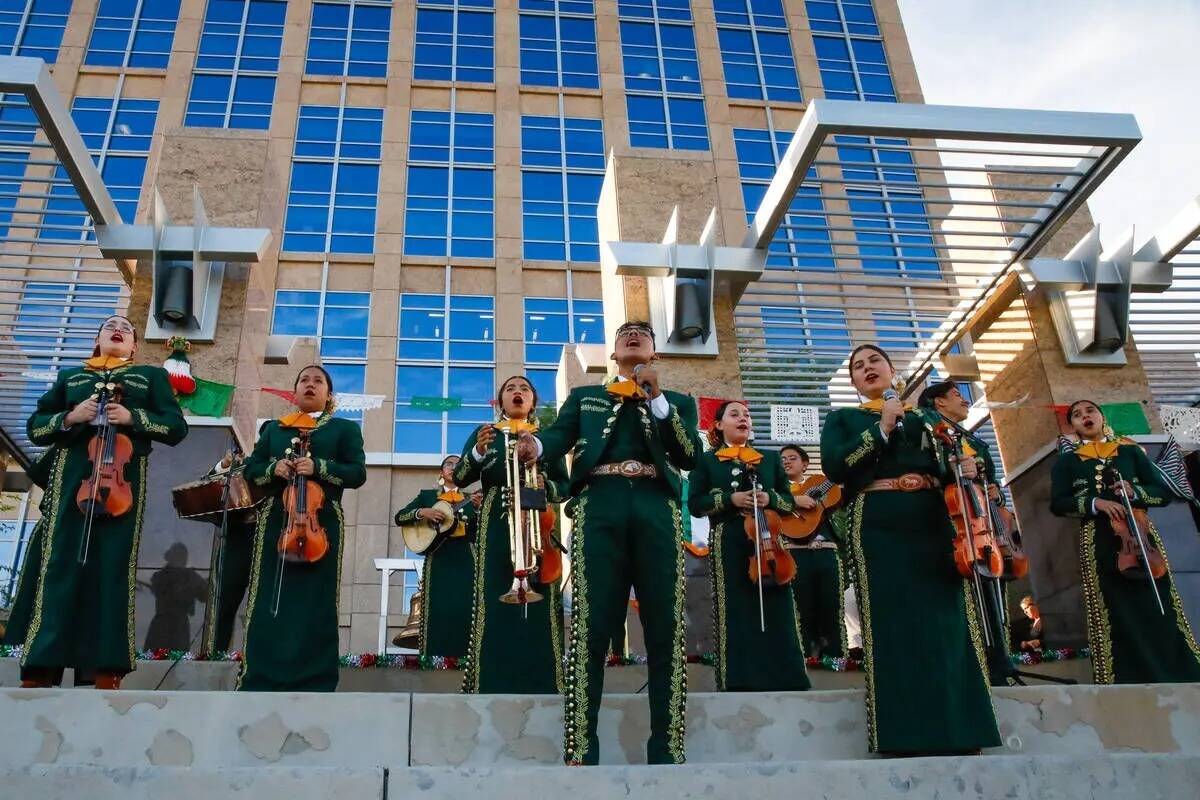
[[[457,453],[496,419],[494,306],[486,295],[401,294],[395,452]],[[414,398],[446,398],[458,408],[414,407]]]

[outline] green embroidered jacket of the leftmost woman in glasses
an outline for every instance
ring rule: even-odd
[[[71,409],[96,393],[100,381],[121,387],[121,404],[130,409],[133,421],[120,426],[119,431],[130,437],[134,456],[149,455],[154,441],[174,446],[187,435],[187,422],[162,367],[137,365],[108,372],[71,367],[60,371],[54,385],[37,401],[37,410],[25,426],[30,441],[42,446],[85,449],[96,428],[73,425],[64,431],[62,420]]]

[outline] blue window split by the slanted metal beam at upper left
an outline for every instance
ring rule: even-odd
[[[137,216],[157,114],[157,100],[131,97],[76,97],[71,107],[71,118],[126,223]],[[79,241],[88,222],[83,201],[62,167],[55,169],[54,179],[38,236]],[[91,240],[92,234],[86,237]]]

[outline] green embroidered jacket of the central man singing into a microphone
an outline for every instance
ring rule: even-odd
[[[654,416],[648,402],[637,402],[642,405],[643,432],[654,457],[654,467],[666,479],[676,497],[679,497],[683,491],[679,470],[695,469],[703,451],[696,432],[700,422],[696,401],[689,395],[666,390],[662,395],[671,404],[671,414],[665,420]],[[600,463],[620,403],[604,386],[577,386],[568,395],[554,423],[538,434],[545,458],[559,459],[568,452],[574,453],[570,482],[572,497],[582,491],[592,469]]]

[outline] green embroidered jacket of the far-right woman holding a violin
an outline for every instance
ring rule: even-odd
[[[1150,457],[1136,444],[1122,443],[1111,458],[1084,459],[1074,452],[1060,453],[1050,473],[1050,511],[1060,517],[1092,518],[1096,516],[1092,500],[1120,503],[1120,495],[1109,488],[1110,480],[1097,467],[1116,467],[1121,477],[1133,485],[1129,500],[1136,509],[1164,506],[1171,501]]]

